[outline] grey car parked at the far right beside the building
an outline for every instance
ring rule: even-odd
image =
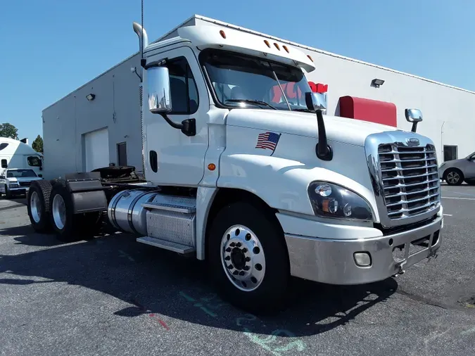
[[[459,186],[464,181],[475,185],[475,152],[460,160],[448,160],[438,168],[438,174],[451,186]]]

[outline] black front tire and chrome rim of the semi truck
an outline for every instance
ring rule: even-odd
[[[289,254],[272,213],[246,202],[224,206],[208,238],[210,272],[230,303],[255,314],[284,307]]]

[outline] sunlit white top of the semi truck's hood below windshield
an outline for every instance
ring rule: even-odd
[[[324,115],[327,138],[355,146],[364,146],[369,134],[399,130],[397,127],[362,120]],[[296,111],[267,109],[232,109],[227,125],[252,129],[274,130],[299,136],[318,136],[317,115]]]

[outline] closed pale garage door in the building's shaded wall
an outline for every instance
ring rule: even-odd
[[[100,167],[107,167],[109,160],[109,132],[108,129],[84,134],[84,153],[86,158],[86,172]]]

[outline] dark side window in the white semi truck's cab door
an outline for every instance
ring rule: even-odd
[[[198,89],[186,58],[179,57],[167,61],[170,73],[172,111],[170,114],[190,115],[198,110]]]

